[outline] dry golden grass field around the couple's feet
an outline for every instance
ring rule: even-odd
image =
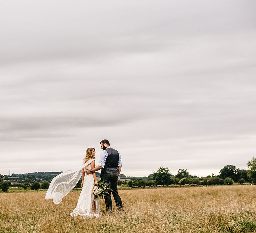
[[[120,190],[124,214],[73,219],[80,192],[59,205],[45,192],[0,193],[0,232],[256,232],[256,186]]]

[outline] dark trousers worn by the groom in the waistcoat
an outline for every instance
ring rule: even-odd
[[[101,179],[109,185],[111,190],[109,190],[108,194],[105,196],[105,204],[107,211],[112,211],[112,200],[111,200],[111,192],[116,202],[116,207],[123,212],[123,204],[120,196],[117,192],[117,172],[104,172],[100,174]]]

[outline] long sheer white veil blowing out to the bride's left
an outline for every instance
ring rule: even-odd
[[[93,160],[95,159],[90,159],[78,167],[70,168],[55,176],[49,185],[45,199],[53,199],[54,204],[59,204],[62,198],[66,196],[80,180],[82,168],[87,167]]]

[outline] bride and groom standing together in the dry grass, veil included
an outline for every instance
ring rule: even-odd
[[[108,184],[110,190],[105,196],[107,212],[112,211],[111,192],[118,210],[123,212],[122,200],[117,191],[118,176],[121,172],[121,155],[110,146],[107,139],[100,142],[101,149],[99,165],[95,167],[95,149],[90,147],[86,150],[83,164],[76,168],[71,168],[53,178],[47,190],[45,199],[53,199],[55,204],[59,204],[77,184],[82,176],[82,191],[80,193],[77,206],[70,214],[72,217],[80,215],[83,218],[98,218],[100,215],[99,198],[95,198],[92,190],[97,185],[95,171],[101,169],[101,180]]]

